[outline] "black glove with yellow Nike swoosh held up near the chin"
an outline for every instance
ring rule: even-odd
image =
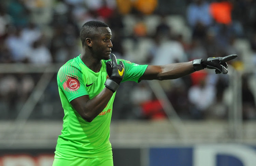
[[[122,61],[117,64],[116,56],[112,54],[111,60],[106,62],[106,71],[109,78],[106,79],[104,85],[114,93],[124,78],[125,66]]]

